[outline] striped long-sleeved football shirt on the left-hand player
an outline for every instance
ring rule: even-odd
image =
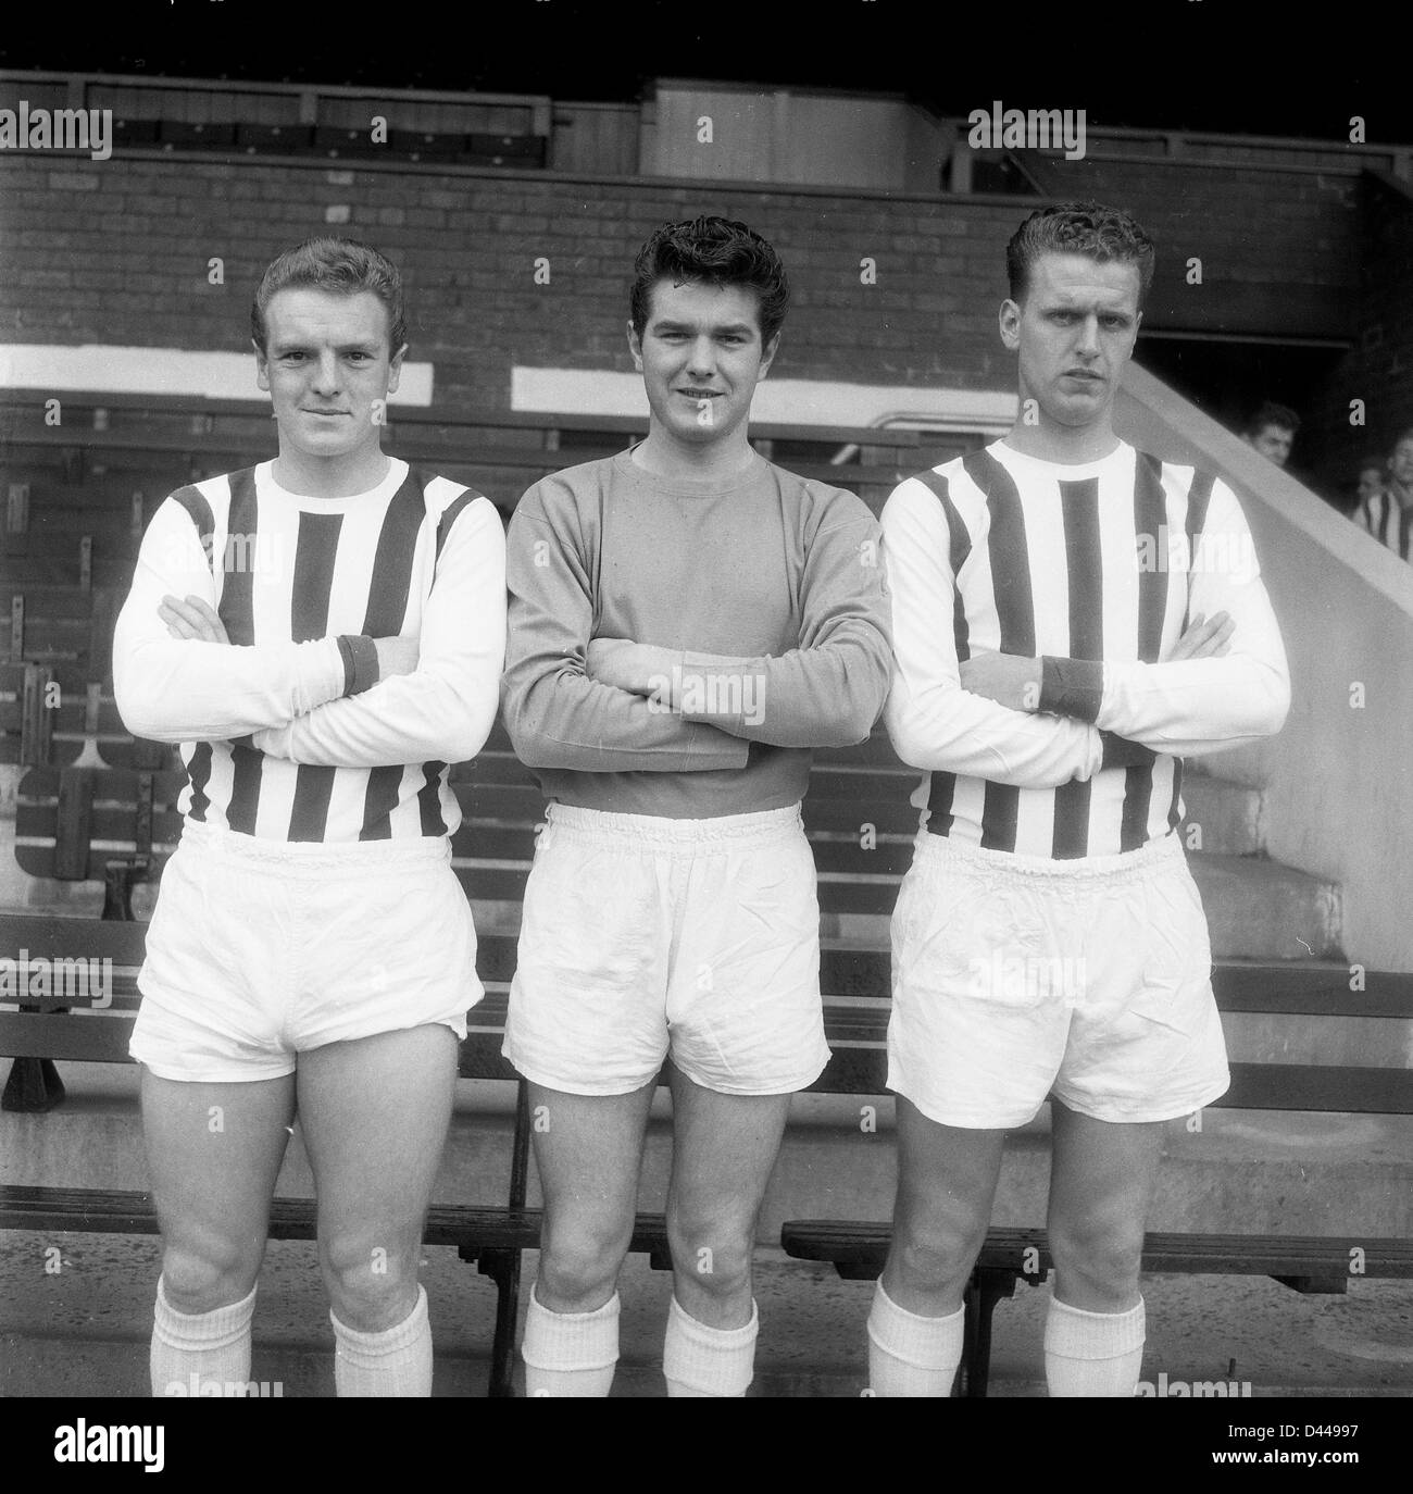
[[[227,645],[173,639],[163,595],[218,611]],[[418,638],[418,665],[350,695],[339,636]],[[279,841],[448,835],[448,762],[494,720],[505,542],[488,499],[393,460],[353,498],[272,463],[173,493],[152,517],[114,642],[137,735],[181,744],[182,813]]]

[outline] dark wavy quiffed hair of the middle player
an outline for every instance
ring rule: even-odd
[[[759,299],[760,341],[769,345],[786,320],[790,281],[780,255],[754,229],[733,218],[686,218],[656,229],[633,261],[629,312],[642,336],[651,312],[653,287],[677,284],[744,285]]]

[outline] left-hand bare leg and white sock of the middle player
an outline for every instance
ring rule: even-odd
[[[633,1239],[656,1079],[626,1095],[529,1086],[545,1218],[526,1310],[526,1395],[602,1397],[618,1361],[618,1270]]]

